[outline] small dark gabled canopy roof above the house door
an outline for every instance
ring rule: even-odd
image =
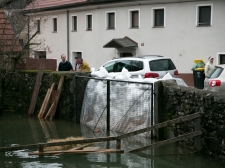
[[[138,43],[131,40],[127,36],[124,38],[112,39],[103,46],[103,48],[130,48],[130,47],[138,47]]]

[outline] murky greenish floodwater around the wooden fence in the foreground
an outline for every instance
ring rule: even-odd
[[[84,125],[73,121],[39,120],[37,117],[28,118],[17,113],[4,113],[0,115],[0,147],[45,143],[50,139],[64,139],[67,137],[100,137],[101,133],[94,134]],[[113,135],[111,135],[113,136]],[[225,163],[214,160],[203,154],[193,153],[171,144],[139,153],[128,153],[131,149],[147,145],[149,140],[135,136],[133,139],[122,140],[125,153],[87,153],[87,154],[61,154],[28,155],[33,150],[18,150],[0,152],[1,168],[224,168]],[[115,149],[115,142],[94,143],[95,148]]]

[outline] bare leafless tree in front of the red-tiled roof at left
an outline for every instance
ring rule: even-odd
[[[23,8],[30,3],[22,0],[0,2],[0,69],[14,72],[21,58],[27,58],[31,40],[36,36],[36,25]],[[35,31],[34,31],[35,30]],[[33,32],[33,34],[29,34]]]

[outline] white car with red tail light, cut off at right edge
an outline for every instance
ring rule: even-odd
[[[214,92],[225,93],[225,65],[217,65],[210,74],[209,78],[205,78],[204,89]]]

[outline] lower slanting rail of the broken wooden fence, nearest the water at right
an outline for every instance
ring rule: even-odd
[[[180,135],[180,136],[175,137],[175,138],[160,141],[160,142],[157,142],[157,143],[154,143],[154,144],[151,144],[151,145],[147,145],[147,146],[144,146],[142,148],[130,150],[128,152],[140,152],[140,151],[143,151],[143,150],[146,150],[146,149],[152,149],[152,148],[155,148],[155,147],[168,145],[168,144],[173,143],[173,142],[182,141],[182,140],[185,140],[187,138],[200,136],[201,134],[202,134],[202,132],[199,130],[199,131],[191,132],[191,133],[188,133],[188,134],[185,134],[185,135]]]

